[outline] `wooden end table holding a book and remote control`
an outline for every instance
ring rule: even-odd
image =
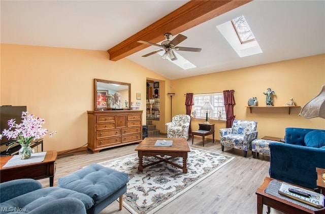
[[[265,193],[265,189],[268,187],[270,182],[274,180],[271,177],[265,177],[264,183],[261,187],[256,190],[257,195],[257,214],[263,213],[263,204],[268,206],[267,213],[270,213],[270,207],[280,210],[285,213],[295,213],[295,214],[305,214],[314,213],[313,210],[307,209],[305,207],[299,206],[297,204],[291,203],[289,201],[283,200],[281,198],[275,197],[268,193]],[[297,186],[297,185],[295,185]],[[299,187],[299,186],[297,186]],[[307,188],[304,188],[307,189]],[[310,190],[310,189],[308,189]],[[313,190],[310,190],[313,191]]]

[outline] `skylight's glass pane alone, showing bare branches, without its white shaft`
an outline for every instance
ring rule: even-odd
[[[238,38],[241,43],[255,40],[253,32],[250,30],[249,25],[244,16],[237,17],[232,20],[232,23],[237,32]]]

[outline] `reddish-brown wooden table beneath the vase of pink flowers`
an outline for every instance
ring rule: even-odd
[[[3,167],[13,156],[0,158],[0,183],[12,181],[15,179],[45,179],[49,177],[50,187],[53,187],[55,161],[57,152],[47,151],[44,161],[39,163],[30,163],[18,166]]]

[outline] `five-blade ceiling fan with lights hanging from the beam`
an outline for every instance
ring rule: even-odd
[[[200,52],[202,50],[201,48],[188,48],[188,47],[177,46],[179,43],[181,43],[187,39],[187,37],[185,37],[185,35],[182,35],[182,34],[178,34],[173,40],[171,40],[172,34],[165,33],[165,38],[166,38],[166,41],[161,42],[161,45],[151,43],[151,42],[142,41],[142,40],[138,41],[138,43],[153,45],[153,46],[157,46],[157,47],[161,48],[159,50],[156,50],[156,51],[153,51],[146,55],[143,55],[143,57],[150,56],[150,55],[158,53],[160,51],[165,51],[165,53],[161,57],[163,57],[164,59],[167,59],[167,57],[169,57],[172,61],[174,61],[177,59],[175,52],[174,52],[175,50],[176,51],[192,51],[192,52]]]

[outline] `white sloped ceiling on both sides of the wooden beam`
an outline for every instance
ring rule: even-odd
[[[3,1],[1,43],[103,50],[114,47],[188,1]],[[263,53],[240,58],[216,26],[244,15]],[[168,78],[325,53],[325,1],[253,1],[182,32],[180,55],[197,68],[183,70],[158,54],[127,58]]]

